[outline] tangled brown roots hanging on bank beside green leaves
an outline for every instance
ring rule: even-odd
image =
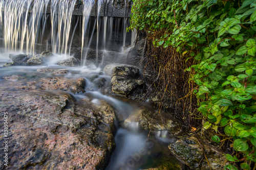
[[[190,72],[184,70],[195,61],[179,54],[174,47],[154,47],[150,41],[144,58],[144,76],[154,88],[156,95],[152,100],[159,110],[172,108],[176,116],[189,123],[189,112],[196,112],[197,100],[191,91],[193,84],[189,84]]]

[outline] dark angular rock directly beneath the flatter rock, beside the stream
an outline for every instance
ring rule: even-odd
[[[128,96],[137,88],[143,89],[144,81],[137,79],[127,79],[121,76],[114,76],[111,79],[112,91],[118,95]]]

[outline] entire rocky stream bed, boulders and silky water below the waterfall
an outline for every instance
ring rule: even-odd
[[[8,112],[9,127],[8,166],[1,162],[0,169],[222,169],[226,164],[218,145],[207,139],[202,144],[208,162],[196,137],[176,138],[182,123],[172,115],[159,116],[150,102],[138,107],[147,87],[139,68],[67,67],[79,63],[72,58],[47,65],[52,56],[10,55],[12,62],[0,67],[0,113]]]

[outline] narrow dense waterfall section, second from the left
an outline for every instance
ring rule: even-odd
[[[70,54],[72,35],[71,20],[76,0],[59,1],[52,0],[52,51],[54,54]],[[75,31],[75,30],[74,30]]]

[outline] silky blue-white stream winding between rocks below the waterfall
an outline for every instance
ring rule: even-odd
[[[7,57],[1,55],[1,63],[6,63]],[[56,56],[59,57],[59,56]],[[110,95],[110,77],[105,76],[100,68],[71,68],[54,64],[48,66],[15,66],[0,67],[0,84],[9,86],[19,86],[31,81],[38,81],[40,78],[56,77],[52,73],[38,72],[42,69],[66,70],[67,74],[57,74],[59,77],[74,78],[82,77],[86,79],[86,92],[72,94],[74,99],[90,99],[95,105],[100,105],[101,100],[111,105],[117,117],[115,142],[116,148],[109,159],[105,169],[148,169],[154,167],[164,167],[163,169],[181,169],[182,163],[170,154],[167,145],[175,141],[175,138],[161,131],[161,133],[151,134],[140,129],[138,117],[145,108],[154,110],[154,107],[145,102],[138,107],[141,102],[131,101],[120,96]],[[15,77],[14,80],[11,77]],[[10,78],[8,78],[10,77]],[[104,87],[99,87],[97,80],[104,79]],[[1,89],[4,87],[2,86]],[[5,87],[6,88],[6,87]],[[13,91],[15,93],[15,90]],[[159,168],[161,169],[161,168]]]

